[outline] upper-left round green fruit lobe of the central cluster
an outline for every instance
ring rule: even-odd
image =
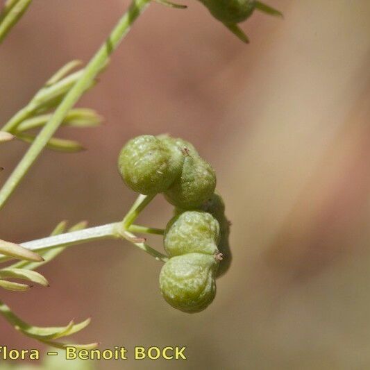
[[[179,176],[184,155],[152,135],[128,141],[119,154],[118,167],[128,187],[140,194],[164,192]]]

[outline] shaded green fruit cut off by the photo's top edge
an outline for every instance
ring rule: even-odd
[[[225,24],[245,21],[255,10],[254,0],[201,0],[210,13]]]

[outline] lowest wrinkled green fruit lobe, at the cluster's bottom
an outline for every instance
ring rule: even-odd
[[[160,271],[160,290],[172,307],[200,312],[216,295],[217,260],[212,255],[189,253],[170,258]]]

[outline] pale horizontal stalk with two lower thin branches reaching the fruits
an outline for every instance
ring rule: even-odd
[[[112,224],[106,224],[101,226],[95,226],[92,228],[85,228],[83,230],[72,231],[70,233],[64,233],[59,235],[53,235],[51,237],[44,237],[42,239],[32,240],[31,242],[25,242],[20,244],[26,249],[31,251],[47,251],[49,249],[59,248],[60,246],[72,246],[85,242],[92,242],[93,240],[101,239],[126,239],[133,243],[138,248],[146,251],[150,255],[153,255],[155,259],[165,261],[167,257],[162,253],[155,251],[147,244],[138,241],[135,235],[131,234],[130,231],[138,233],[156,233],[162,234],[162,230],[146,228],[145,226],[132,225],[127,230],[122,228],[121,222],[113,222]],[[10,260],[12,258],[0,255],[0,262]]]

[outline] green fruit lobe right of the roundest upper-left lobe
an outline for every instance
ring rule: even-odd
[[[199,208],[216,188],[216,174],[211,165],[200,157],[185,156],[183,170],[165,191],[169,203],[185,210]]]

